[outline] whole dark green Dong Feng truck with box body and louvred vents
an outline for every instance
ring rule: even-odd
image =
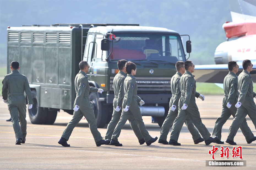
[[[126,59],[137,65],[138,95],[143,116],[156,116],[162,126],[171,98],[170,79],[175,63],[185,61],[181,36],[166,28],[138,24],[53,24],[7,28],[7,66],[20,63],[27,76],[34,105],[29,110],[33,124],[53,124],[60,109],[73,114],[74,79],[78,63],[85,60],[97,126],[104,127],[113,111],[113,79],[117,61]],[[187,53],[191,42],[186,42]],[[10,70],[7,69],[10,73]]]

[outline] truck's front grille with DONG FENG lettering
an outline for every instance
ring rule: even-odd
[[[114,77],[110,77],[110,91],[114,91]],[[159,91],[171,91],[171,77],[136,77],[138,93],[150,91],[152,93]]]

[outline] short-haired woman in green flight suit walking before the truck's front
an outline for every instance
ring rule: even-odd
[[[116,125],[116,128],[113,132],[110,145],[122,146],[118,142],[118,137],[120,135],[121,129],[126,123],[127,119],[132,115],[140,129],[140,132],[146,141],[147,146],[157,140],[157,137],[152,138],[142,120],[139,102],[137,98],[137,83],[134,75],[136,74],[136,65],[132,62],[127,62],[125,65],[126,72],[128,73],[127,77],[124,80],[124,99],[122,103],[122,114],[121,118]]]

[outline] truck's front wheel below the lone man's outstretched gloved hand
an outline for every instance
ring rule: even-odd
[[[107,107],[103,105],[103,102],[99,102],[98,95],[95,92],[91,92],[89,98],[90,104],[94,110],[97,127],[103,128],[108,118]]]

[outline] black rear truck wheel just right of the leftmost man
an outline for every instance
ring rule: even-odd
[[[39,103],[37,103],[36,90],[32,90],[32,99],[34,104],[31,109],[28,109],[29,119],[32,124],[44,124],[48,110],[44,110],[43,107],[39,107]]]

